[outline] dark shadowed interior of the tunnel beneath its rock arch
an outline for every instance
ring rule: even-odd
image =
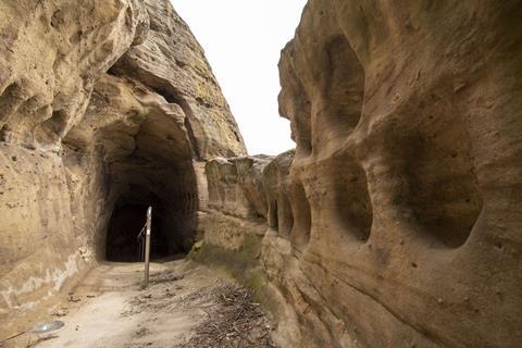
[[[139,261],[136,238],[149,206],[152,260],[177,258],[192,248],[199,206],[192,153],[181,141],[177,125],[173,130],[165,122],[163,114],[150,113],[135,136],[134,152],[108,165],[112,211],[99,250],[109,261]]]

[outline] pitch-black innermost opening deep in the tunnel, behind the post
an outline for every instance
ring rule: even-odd
[[[147,204],[116,207],[107,234],[107,260],[116,262],[140,262],[140,244],[137,238],[145,226]],[[164,231],[161,207],[152,208],[151,260],[169,256],[169,239]]]

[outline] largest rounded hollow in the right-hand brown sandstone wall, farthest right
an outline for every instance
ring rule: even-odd
[[[398,189],[391,204],[406,209],[412,231],[434,247],[458,248],[483,207],[468,123],[459,100],[443,82],[430,96],[412,95],[384,129],[384,152]],[[395,120],[403,126],[394,126]],[[382,134],[380,134],[382,136]]]

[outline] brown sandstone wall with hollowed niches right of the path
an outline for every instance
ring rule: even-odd
[[[252,256],[287,346],[520,345],[520,14],[309,1],[279,63],[297,149],[263,170]],[[208,219],[226,227],[204,240],[237,258],[261,231],[233,213],[263,207],[248,161],[208,166]]]

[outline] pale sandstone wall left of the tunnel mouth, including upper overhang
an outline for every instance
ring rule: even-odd
[[[14,322],[4,315],[48,300],[92,260],[85,231],[75,228],[84,216],[72,211],[60,144],[96,80],[139,42],[148,17],[139,1],[4,1],[0,13],[3,328]]]

